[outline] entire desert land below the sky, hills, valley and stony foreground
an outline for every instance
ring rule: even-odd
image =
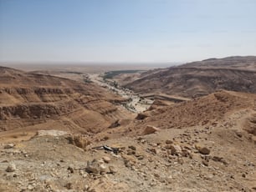
[[[0,68],[0,191],[255,191],[256,57]]]

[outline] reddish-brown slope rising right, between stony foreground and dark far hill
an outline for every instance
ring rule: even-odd
[[[256,135],[256,94],[220,91],[177,104],[167,105],[161,102],[158,107],[157,104],[154,104],[154,108],[138,114],[131,124],[112,130],[108,137],[115,137],[115,134],[140,135],[147,126],[184,129],[217,125],[243,129]]]

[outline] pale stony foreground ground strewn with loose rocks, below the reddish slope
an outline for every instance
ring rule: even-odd
[[[39,131],[0,147],[0,191],[255,191],[255,141],[221,126],[98,143]],[[153,130],[153,131],[152,131]]]

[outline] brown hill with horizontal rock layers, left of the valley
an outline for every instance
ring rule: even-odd
[[[0,130],[99,132],[127,114],[124,101],[94,83],[0,68]]]

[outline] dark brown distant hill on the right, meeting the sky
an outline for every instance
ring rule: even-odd
[[[125,84],[137,93],[167,93],[187,98],[219,89],[256,93],[256,57],[207,59],[179,67],[151,70]]]

